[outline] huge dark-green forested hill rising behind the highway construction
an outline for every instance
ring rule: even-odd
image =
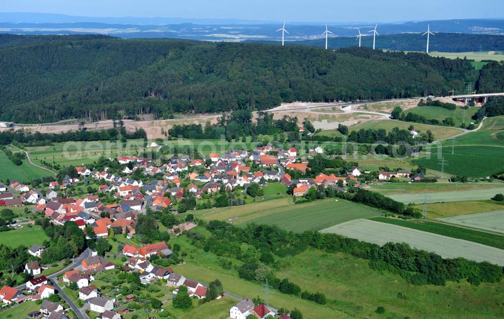
[[[0,118],[15,122],[440,95],[478,80],[469,61],[423,53],[72,36],[0,49],[0,68]]]

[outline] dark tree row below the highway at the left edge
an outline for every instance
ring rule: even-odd
[[[32,133],[24,130],[7,130],[0,132],[0,145],[20,143],[22,146],[46,146],[52,143],[71,141],[116,141],[118,137],[143,139],[147,137],[147,133],[142,128],[135,129],[134,132],[127,132],[123,127],[100,131],[76,130],[61,133],[40,133],[38,131]]]

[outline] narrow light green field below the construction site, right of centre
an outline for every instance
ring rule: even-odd
[[[428,130],[430,130],[434,134],[436,139],[449,138],[451,136],[462,133],[461,129],[457,129],[455,127],[426,125],[426,124],[410,123],[389,119],[359,123],[350,126],[348,130],[359,131],[360,129],[374,129],[374,130],[385,129],[387,132],[389,132],[392,131],[394,127],[399,127],[399,129],[401,130],[407,130],[410,125],[415,126],[415,129],[419,130],[420,132],[427,132]]]

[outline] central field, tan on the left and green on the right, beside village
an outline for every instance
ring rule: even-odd
[[[202,215],[205,220],[229,220],[234,225],[242,226],[250,222],[278,225],[281,228],[302,232],[320,230],[346,221],[379,215],[381,211],[339,200],[327,199],[304,204],[292,204],[290,198],[281,198],[213,210]]]

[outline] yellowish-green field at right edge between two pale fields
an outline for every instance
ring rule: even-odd
[[[415,205],[414,208],[422,210],[423,204]],[[492,212],[502,209],[504,209],[504,205],[496,204],[493,201],[432,203],[427,205],[427,219]]]

